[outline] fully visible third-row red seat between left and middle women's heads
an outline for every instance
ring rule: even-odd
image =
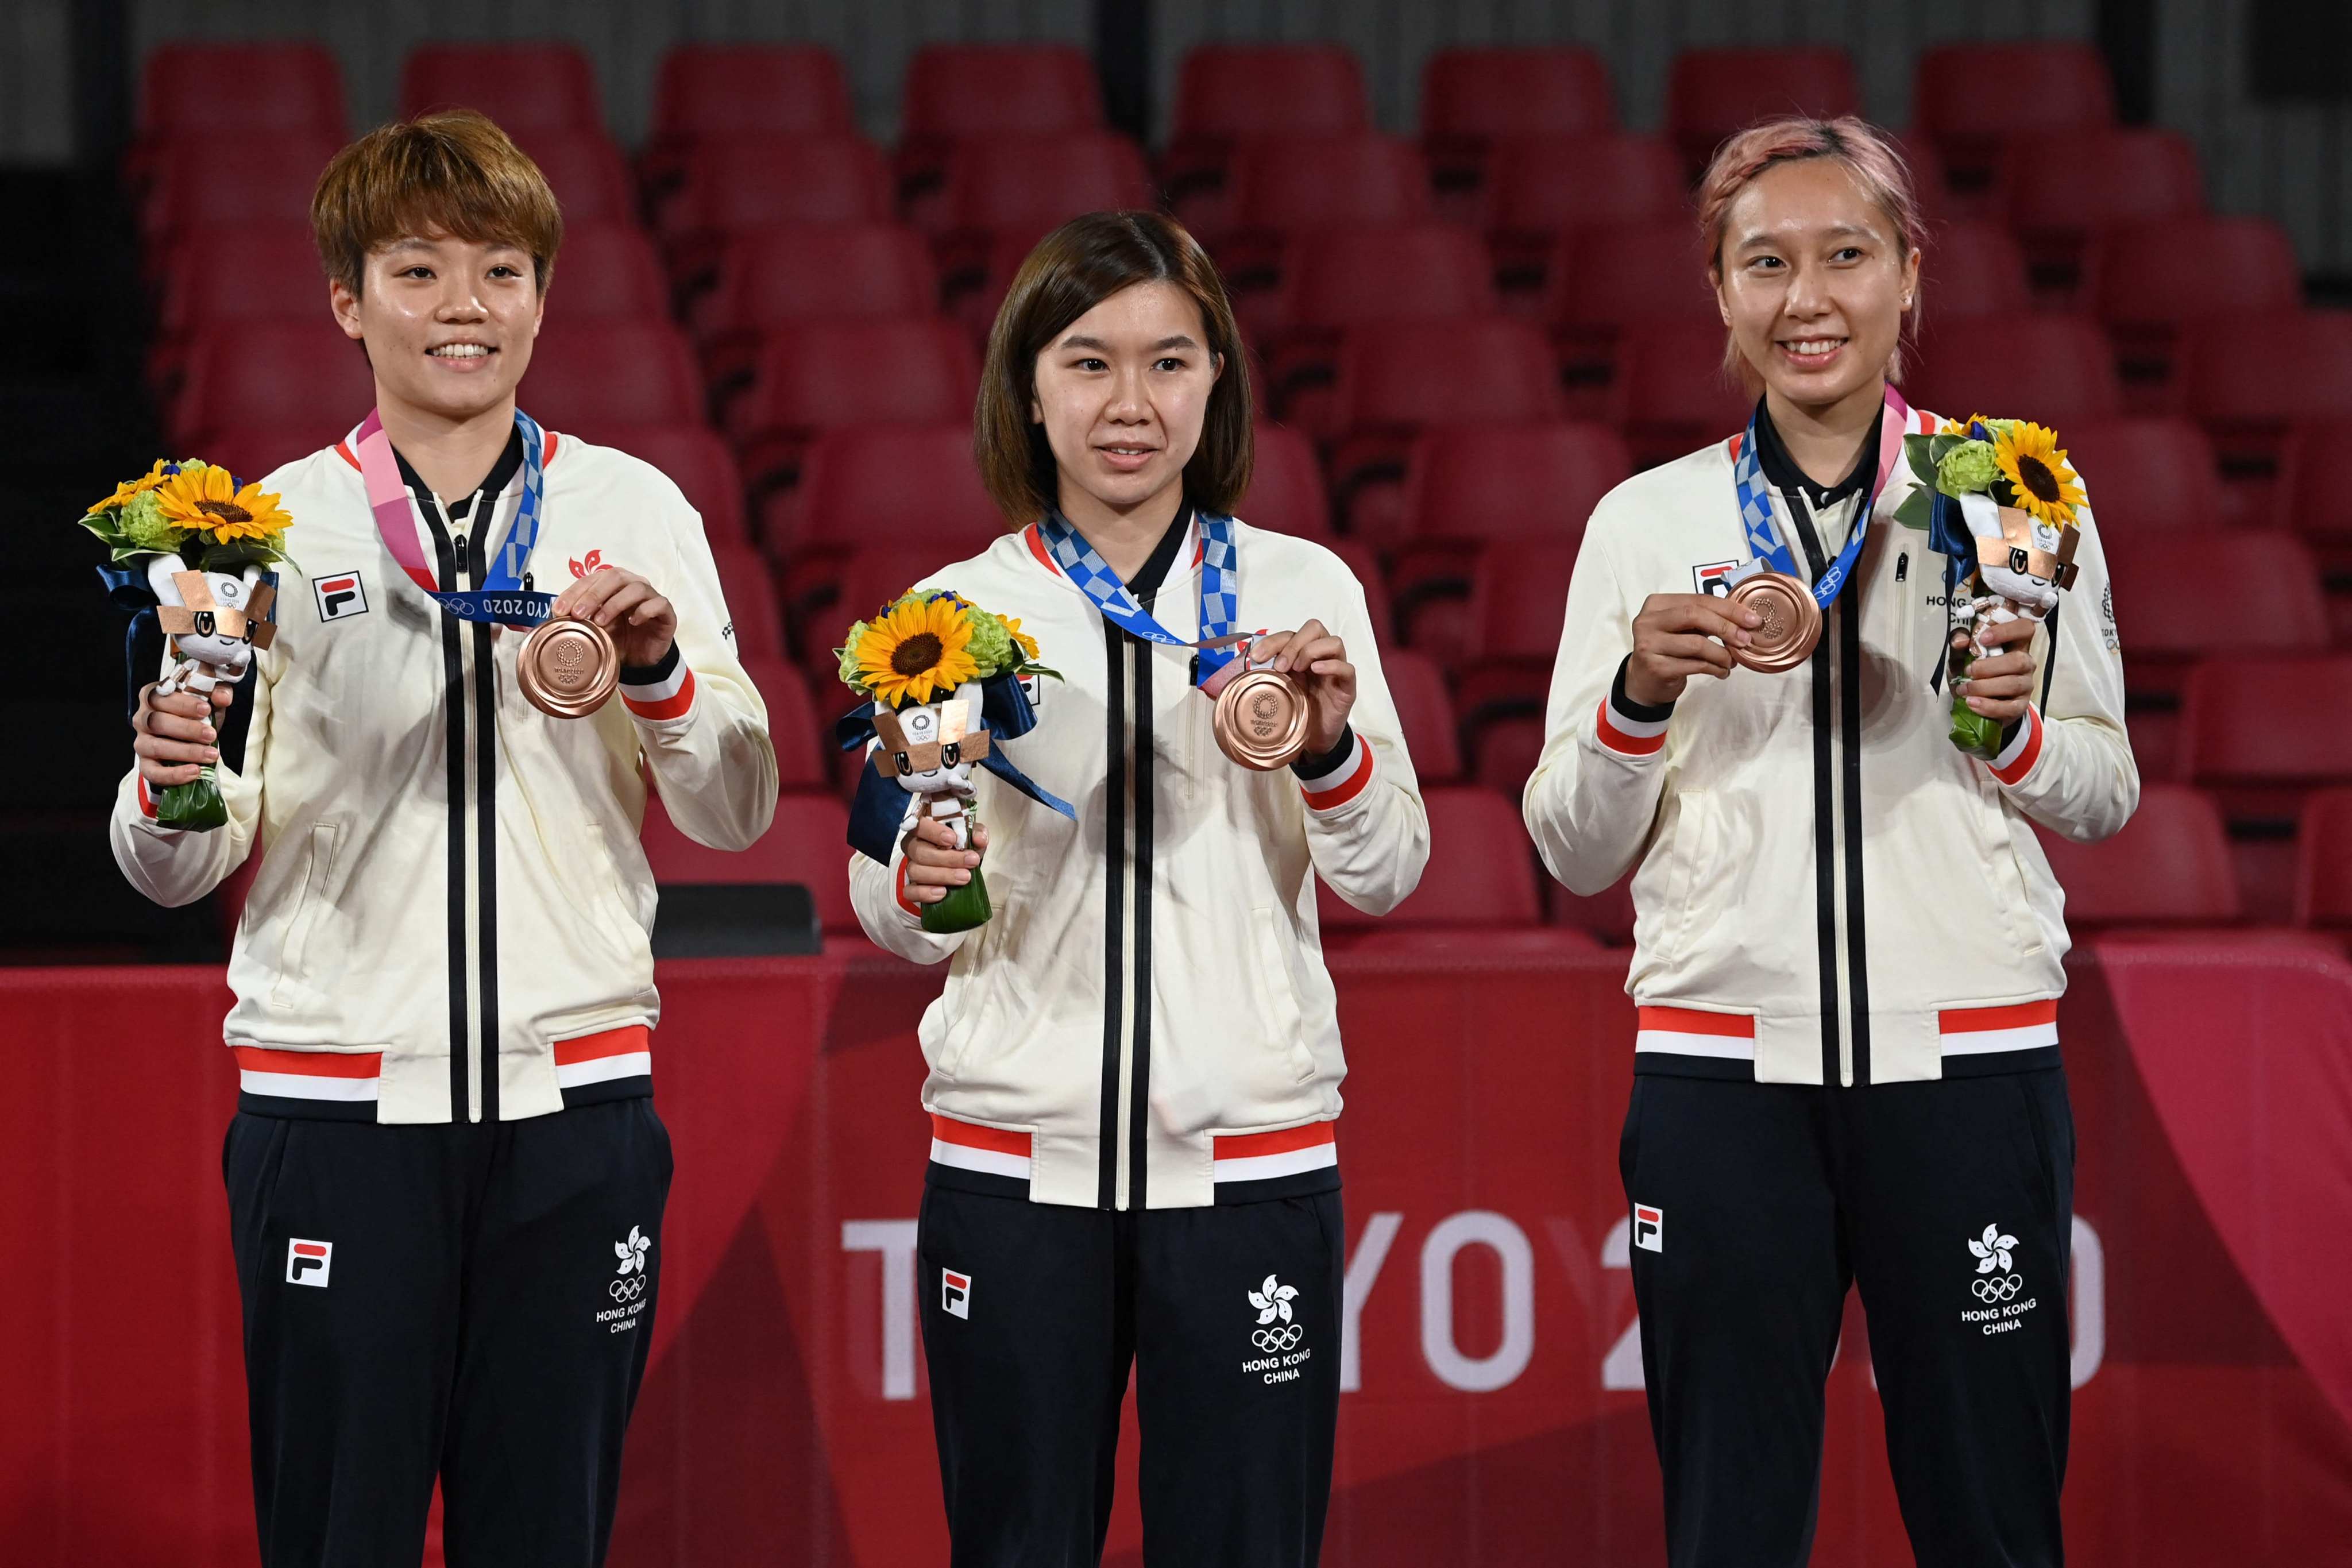
[[[938,308],[931,249],[903,223],[781,223],[739,235],[694,329],[713,386],[750,374],[760,334],[809,320],[908,320]]]

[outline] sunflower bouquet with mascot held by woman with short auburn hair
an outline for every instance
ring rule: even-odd
[[[136,611],[132,621],[132,679],[153,670],[141,661],[141,630],[153,623],[172,637],[174,670],[155,684],[160,696],[198,691],[207,701],[216,686],[245,679],[254,649],[270,646],[275,567],[287,557],[292,517],[278,496],[259,484],[238,484],[219,463],[158,458],[143,475],[82,515],[111,564],[99,574],[115,599]],[[155,820],[167,827],[207,830],[228,820],[212,764],[195,780],[169,785],[155,802]]]

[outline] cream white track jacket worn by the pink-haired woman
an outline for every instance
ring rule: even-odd
[[[1642,602],[1750,555],[1731,465],[1717,442],[1595,508],[1524,797],[1573,891],[1635,872],[1637,1070],[1889,1084],[2053,1065],[2065,896],[2030,823],[2103,839],[2140,797],[2091,512],[2082,576],[2034,632],[2039,698],[1985,764],[1945,738],[1945,557],[1893,522],[1917,484],[1900,461],[1809,665],[1628,701]],[[1806,576],[1851,536],[1860,489],[1839,489],[1816,510],[1773,480]]]

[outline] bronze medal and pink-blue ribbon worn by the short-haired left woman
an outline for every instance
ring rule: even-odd
[[[515,409],[515,430],[522,433],[522,505],[515,522],[485,559],[489,571],[473,590],[445,590],[435,585],[426,567],[423,545],[416,541],[416,503],[400,480],[400,461],[393,456],[393,437],[383,430],[383,416],[367,411],[358,437],[350,442],[360,456],[360,480],[367,484],[367,510],[376,517],[376,534],[393,552],[400,569],[442,611],[459,621],[489,621],[496,625],[536,628],[515,654],[515,684],[539,712],[553,719],[579,719],[604,705],[621,679],[621,656],[612,632],[593,621],[562,616],[548,618],[555,595],[534,592],[524,567],[532,545],[539,543],[539,510],[546,498],[546,435],[539,421]]]

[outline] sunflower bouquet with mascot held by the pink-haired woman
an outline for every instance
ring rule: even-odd
[[[2039,621],[2074,585],[2082,480],[2058,433],[2023,418],[1945,421],[1933,435],[1903,437],[1903,456],[1919,489],[1896,508],[1896,522],[1929,529],[1933,548],[1952,557],[1952,628],[1969,632],[1969,644],[1950,658],[1959,682],[1983,658],[1987,625]],[[1985,759],[2002,750],[1999,719],[1976,712],[1957,691],[1952,745]]]

